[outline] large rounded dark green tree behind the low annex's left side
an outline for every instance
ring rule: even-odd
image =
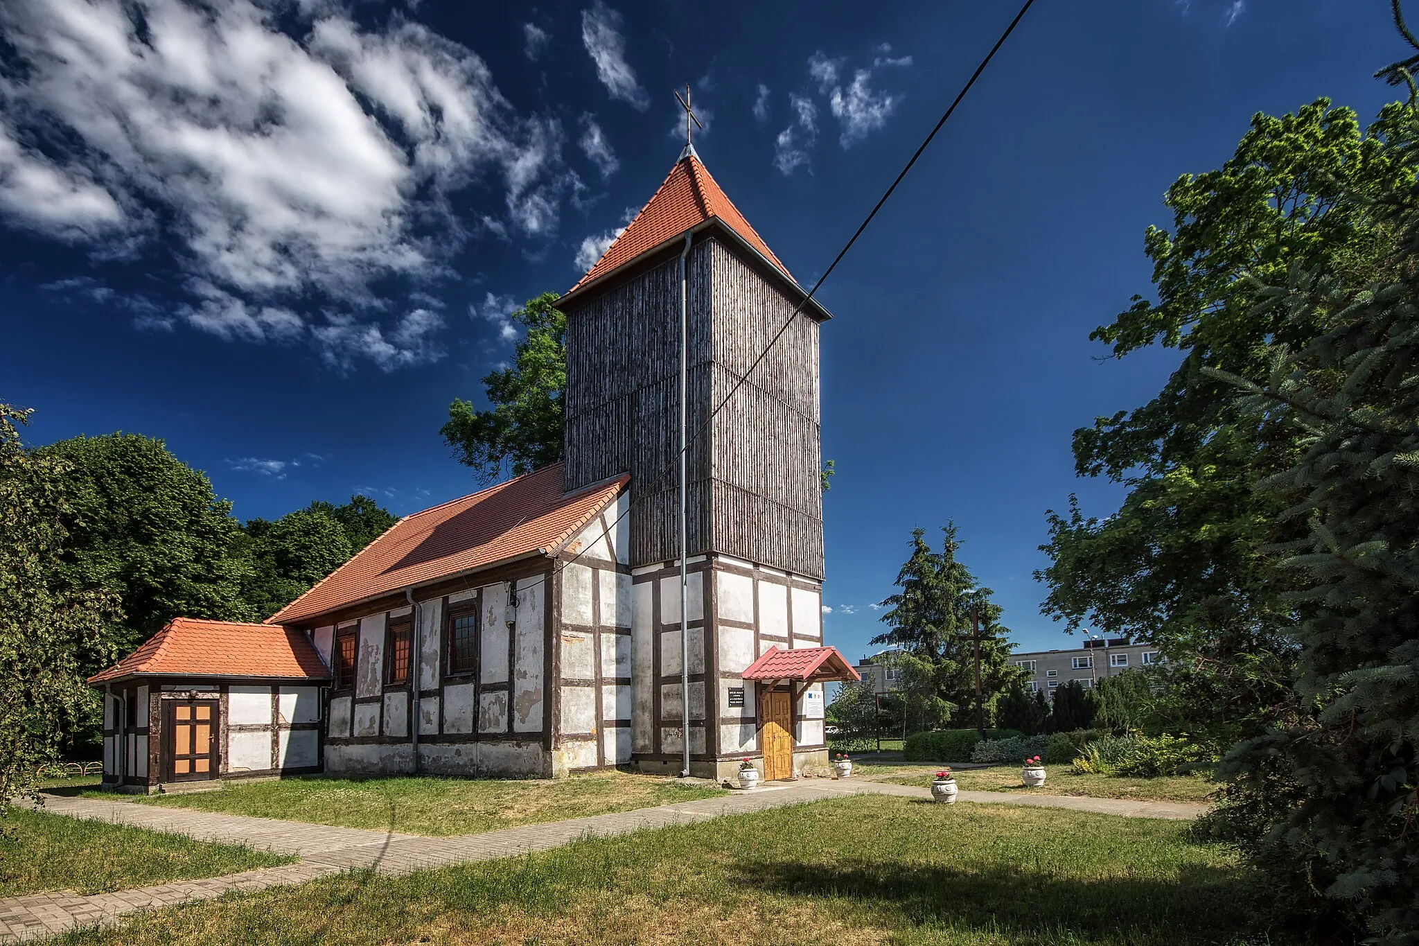
[[[74,437],[34,451],[64,461],[68,498],[61,581],[122,603],[114,644],[131,650],[173,617],[247,620],[247,563],[231,503],[211,481],[139,434]],[[85,668],[101,669],[98,665]]]

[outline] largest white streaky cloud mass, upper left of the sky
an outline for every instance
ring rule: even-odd
[[[219,338],[305,338],[338,365],[437,357],[437,316],[386,296],[448,274],[468,234],[453,194],[492,184],[504,210],[480,233],[548,237],[579,186],[555,119],[518,115],[478,55],[407,18],[10,0],[0,31],[0,218],[106,258],[175,258],[190,295],[173,308]]]

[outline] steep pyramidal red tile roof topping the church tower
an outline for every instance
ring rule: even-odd
[[[705,166],[700,163],[700,159],[690,155],[675,162],[650,203],[641,207],[626,231],[616,237],[616,241],[607,247],[596,265],[587,269],[586,275],[569,292],[576,292],[647,250],[654,250],[663,243],[681,237],[691,227],[710,218],[718,218],[741,240],[758,250],[765,260],[778,267],[789,282],[795,282],[788,267],[779,262],[769,245],[725,196]],[[795,282],[795,285],[797,284]]]

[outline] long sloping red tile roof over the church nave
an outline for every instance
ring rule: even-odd
[[[562,464],[404,516],[353,559],[267,618],[291,624],[525,555],[576,535],[630,481],[562,492]]]

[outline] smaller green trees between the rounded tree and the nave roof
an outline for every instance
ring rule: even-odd
[[[244,600],[257,617],[271,617],[394,522],[369,496],[350,496],[341,506],[316,501],[275,522],[251,519],[244,526],[250,562]]]

